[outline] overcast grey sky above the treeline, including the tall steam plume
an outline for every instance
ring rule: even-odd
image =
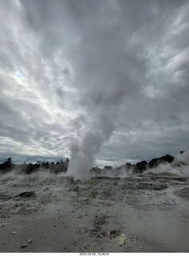
[[[0,162],[188,149],[188,1],[1,0],[0,17]]]

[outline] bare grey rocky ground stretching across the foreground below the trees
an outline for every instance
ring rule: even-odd
[[[0,178],[0,252],[188,252],[189,178]]]

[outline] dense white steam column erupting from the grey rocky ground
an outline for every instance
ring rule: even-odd
[[[74,178],[89,178],[89,170],[94,166],[96,154],[100,152],[100,146],[108,140],[115,129],[116,110],[119,104],[114,107],[112,112],[107,113],[107,109],[112,108],[112,102],[99,106],[93,114],[93,120],[88,124],[89,130],[84,130],[78,138],[71,142],[71,158],[69,163],[68,175]],[[104,114],[100,114],[100,113]],[[113,118],[112,118],[113,116]]]

